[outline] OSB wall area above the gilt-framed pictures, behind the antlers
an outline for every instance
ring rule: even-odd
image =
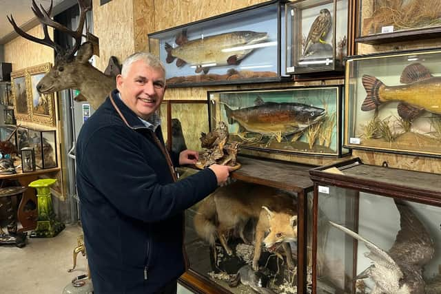
[[[49,28],[49,34],[52,37],[52,28]],[[28,30],[28,34],[41,39],[44,37],[41,25]],[[42,63],[54,63],[54,50],[48,46],[41,45],[22,36],[6,43],[4,45],[5,61],[12,63],[12,71],[21,70],[25,67],[39,65]]]

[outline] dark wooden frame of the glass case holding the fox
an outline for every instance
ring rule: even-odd
[[[232,178],[297,193],[297,292],[306,293],[307,193],[313,191],[308,171],[313,166],[248,156],[238,156],[238,162],[242,167],[232,172]],[[192,269],[187,270],[178,282],[196,293],[230,293]]]

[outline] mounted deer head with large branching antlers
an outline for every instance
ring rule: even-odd
[[[92,9],[91,0],[78,0],[80,7],[79,25],[75,31],[66,28],[61,23],[57,23],[50,18],[52,12],[52,0],[50,8],[45,10],[43,6],[37,6],[32,0],[32,11],[43,26],[44,39],[39,39],[23,32],[15,23],[12,15],[8,17],[9,22],[14,27],[15,32],[30,41],[47,45],[56,52],[54,66],[41,78],[37,84],[37,90],[41,94],[51,94],[65,89],[80,90],[80,98],[76,101],[88,100],[90,105],[97,109],[104,102],[107,94],[116,87],[115,78],[106,76],[89,63],[93,54],[93,45],[90,42],[81,44],[83,36],[83,26],[86,12]],[[60,45],[52,41],[48,34],[48,25],[55,30],[69,34],[74,38],[74,46],[71,49],[61,48]],[[76,52],[76,56],[74,55]]]

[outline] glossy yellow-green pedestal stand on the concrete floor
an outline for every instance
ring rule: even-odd
[[[52,196],[50,195],[50,185],[57,182],[54,178],[34,180],[29,187],[37,189],[37,207],[39,216],[37,218],[37,228],[30,233],[30,238],[49,238],[55,237],[63,231],[65,225],[55,220],[55,213],[52,207]]]

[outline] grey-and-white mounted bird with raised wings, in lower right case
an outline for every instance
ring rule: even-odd
[[[389,251],[384,251],[358,233],[330,223],[364,242],[369,249],[365,256],[373,264],[363,273],[375,283],[371,294],[424,294],[422,267],[433,258],[433,240],[407,204],[397,200],[395,204],[400,212],[400,231]]]

